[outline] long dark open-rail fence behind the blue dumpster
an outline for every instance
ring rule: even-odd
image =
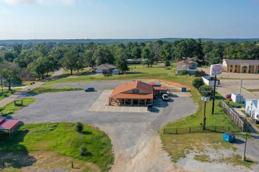
[[[223,126],[199,126],[199,127],[188,127],[188,128],[164,128],[164,134],[189,134],[189,133],[197,133],[197,132],[232,132],[238,133],[242,130],[242,127],[223,127]]]

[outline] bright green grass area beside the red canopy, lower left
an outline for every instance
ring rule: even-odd
[[[86,156],[81,156],[78,151],[82,146],[87,148]],[[10,138],[9,133],[6,133],[0,142],[0,151],[36,150],[52,151],[92,162],[102,171],[108,171],[114,162],[108,135],[88,124],[84,124],[82,140],[75,131],[75,123],[60,122],[23,124],[15,137]]]

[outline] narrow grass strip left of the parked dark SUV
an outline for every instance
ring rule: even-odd
[[[48,93],[48,92],[62,92],[62,91],[80,91],[80,90],[84,90],[82,88],[71,88],[73,86],[68,86],[67,88],[52,88],[55,87],[57,84],[55,85],[47,85],[47,86],[43,86],[43,87],[37,87],[34,88],[33,90],[27,92],[26,94],[41,94],[41,93]]]

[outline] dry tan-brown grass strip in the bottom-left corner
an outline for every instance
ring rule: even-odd
[[[2,171],[55,171],[63,169],[68,171],[100,171],[100,168],[83,160],[65,156],[51,151],[0,151],[0,159],[4,159],[6,167]],[[71,168],[73,161],[73,169]],[[46,165],[47,164],[47,165]]]

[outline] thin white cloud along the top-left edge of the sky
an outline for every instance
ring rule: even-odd
[[[74,6],[76,0],[0,0],[0,3],[9,5],[40,5],[40,6]]]

